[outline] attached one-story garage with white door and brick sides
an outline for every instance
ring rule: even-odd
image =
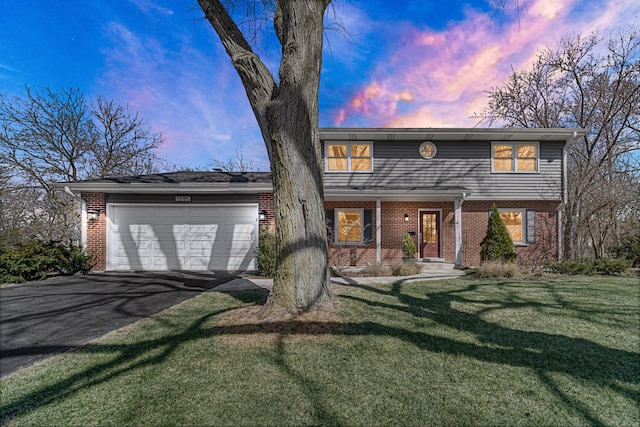
[[[80,204],[92,271],[241,272],[258,269],[258,230],[270,224],[258,206],[273,203],[271,181],[269,172],[186,171],[58,186]]]

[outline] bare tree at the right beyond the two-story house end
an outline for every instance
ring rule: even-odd
[[[512,127],[581,127],[567,147],[565,255],[603,257],[623,212],[637,203],[640,32],[564,37],[531,70],[489,93],[480,116]]]

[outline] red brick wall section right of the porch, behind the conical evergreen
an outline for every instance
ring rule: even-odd
[[[487,233],[489,210],[493,201],[462,204],[462,264],[480,264],[480,242]],[[524,264],[539,264],[545,259],[558,256],[558,209],[560,202],[550,201],[496,201],[500,209],[535,209],[536,243],[516,246],[518,261]]]

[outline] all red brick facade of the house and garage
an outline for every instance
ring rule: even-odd
[[[94,271],[106,270],[107,221],[106,196],[102,193],[83,193],[87,209],[100,211],[96,221],[87,223],[87,250],[93,257]],[[494,201],[465,201],[462,205],[462,264],[480,263],[480,242],[487,230],[488,213]],[[557,257],[557,220],[560,203],[555,201],[496,201],[498,208],[535,209],[536,243],[516,246],[520,262],[539,263]],[[365,265],[376,263],[376,202],[328,201],[327,209],[371,209],[373,241],[362,245],[329,245],[330,263],[333,265]],[[274,202],[271,193],[258,194],[258,210],[266,211],[266,219],[259,221],[260,229],[274,228]],[[381,202],[381,261],[389,264],[402,259],[402,238],[406,232],[415,232],[414,243],[419,250],[419,211],[440,213],[441,257],[455,261],[455,219],[453,202]],[[407,214],[409,220],[405,221]]]

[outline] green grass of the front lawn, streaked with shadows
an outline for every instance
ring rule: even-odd
[[[203,294],[1,380],[0,423],[640,424],[636,278],[335,289],[296,339],[220,325],[264,295]]]

